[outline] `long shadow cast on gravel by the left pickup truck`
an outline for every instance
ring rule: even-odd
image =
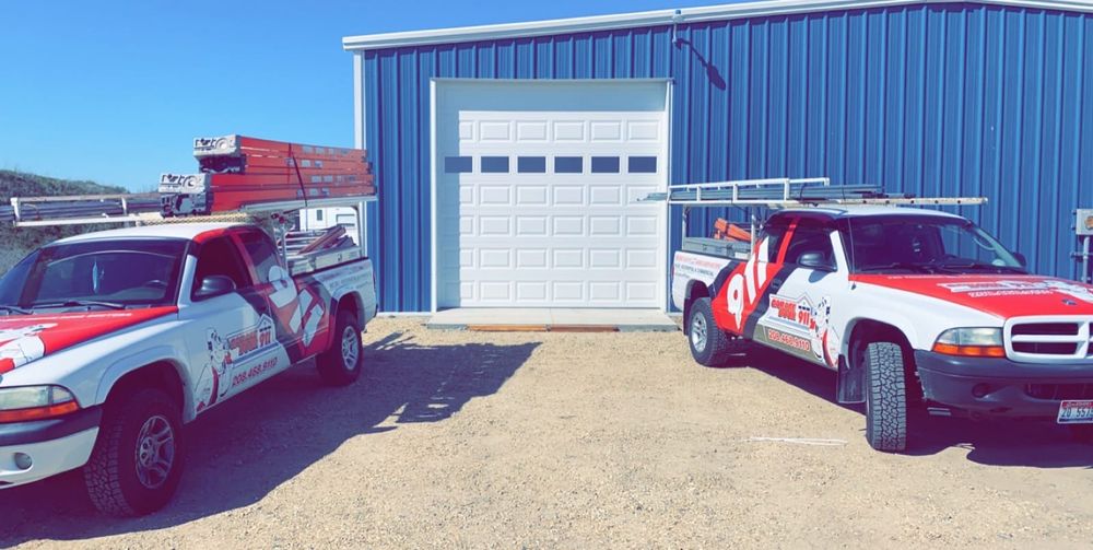
[[[418,346],[400,332],[365,348],[348,388],[324,386],[298,365],[187,426],[186,472],[174,500],[141,518],[98,514],[79,470],[0,491],[0,548],[172,527],[254,504],[344,442],[397,426],[438,422],[495,394],[538,347]]]

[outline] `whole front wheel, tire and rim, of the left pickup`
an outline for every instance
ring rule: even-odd
[[[91,501],[117,516],[163,507],[183,472],[179,406],[160,389],[140,389],[107,403],[98,438],[83,467]]]

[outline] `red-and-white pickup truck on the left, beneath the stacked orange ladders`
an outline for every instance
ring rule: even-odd
[[[310,358],[324,381],[355,381],[372,262],[345,239],[286,250],[256,225],[168,224],[64,238],[12,268],[0,489],[83,468],[99,510],[145,514],[178,484],[183,424]]]

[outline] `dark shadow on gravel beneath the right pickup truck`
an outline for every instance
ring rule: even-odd
[[[781,353],[759,350],[740,361],[755,370],[792,384],[835,407],[865,414],[860,405],[835,400],[835,373]],[[930,417],[925,412],[909,420],[910,456],[928,456],[947,448],[967,450],[967,459],[989,466],[1093,469],[1093,446],[1076,443],[1066,426],[1051,422],[971,420]],[[861,428],[865,437],[865,422]]]

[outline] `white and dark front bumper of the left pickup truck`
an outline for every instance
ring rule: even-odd
[[[86,464],[102,416],[102,409],[92,407],[59,419],[0,424],[0,489],[38,481]],[[16,465],[19,453],[31,457],[30,468]]]

